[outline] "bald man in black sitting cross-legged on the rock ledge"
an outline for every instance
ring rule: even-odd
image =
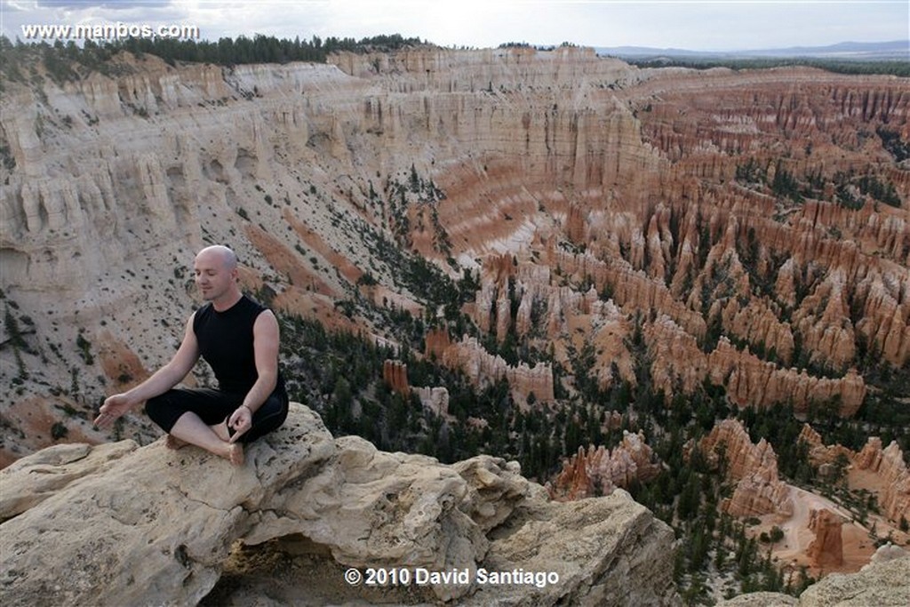
[[[145,401],[148,417],[167,432],[169,448],[197,445],[240,466],[239,443],[277,429],[288,417],[278,373],[278,320],[240,292],[231,249],[202,249],[194,268],[208,304],[187,320],[174,358],[135,388],[105,400],[95,423],[108,427]],[[175,389],[199,356],[215,372],[218,389]]]

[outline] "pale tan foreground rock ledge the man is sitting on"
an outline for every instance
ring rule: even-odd
[[[235,541],[277,540],[323,555],[322,572],[298,581],[297,596],[308,598],[295,604],[337,598],[319,598],[323,578],[342,574],[337,563],[464,572],[466,582],[402,592],[467,605],[681,604],[672,531],[624,491],[549,501],[514,463],[480,456],[444,466],[335,440],[296,403],[280,430],[248,446],[240,468],[194,447],[126,440],[42,450],[0,482],[5,605],[196,604]],[[479,577],[516,570],[551,572],[551,582]]]

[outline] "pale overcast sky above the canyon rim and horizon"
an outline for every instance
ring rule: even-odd
[[[0,26],[197,25],[201,37],[360,39],[440,46],[504,42],[746,50],[910,38],[908,0],[0,0]]]

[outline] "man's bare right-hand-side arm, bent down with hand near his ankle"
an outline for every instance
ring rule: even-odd
[[[278,319],[271,310],[259,314],[253,325],[253,352],[258,379],[247,392],[243,404],[230,416],[227,424],[237,430],[231,441],[252,426],[253,412],[262,406],[278,385]]]

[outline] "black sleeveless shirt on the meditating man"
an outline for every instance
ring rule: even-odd
[[[253,325],[265,310],[246,295],[222,312],[211,303],[197,309],[193,332],[199,353],[215,371],[219,389],[246,395],[256,383],[259,374],[253,349]],[[277,389],[283,383],[279,373]]]

